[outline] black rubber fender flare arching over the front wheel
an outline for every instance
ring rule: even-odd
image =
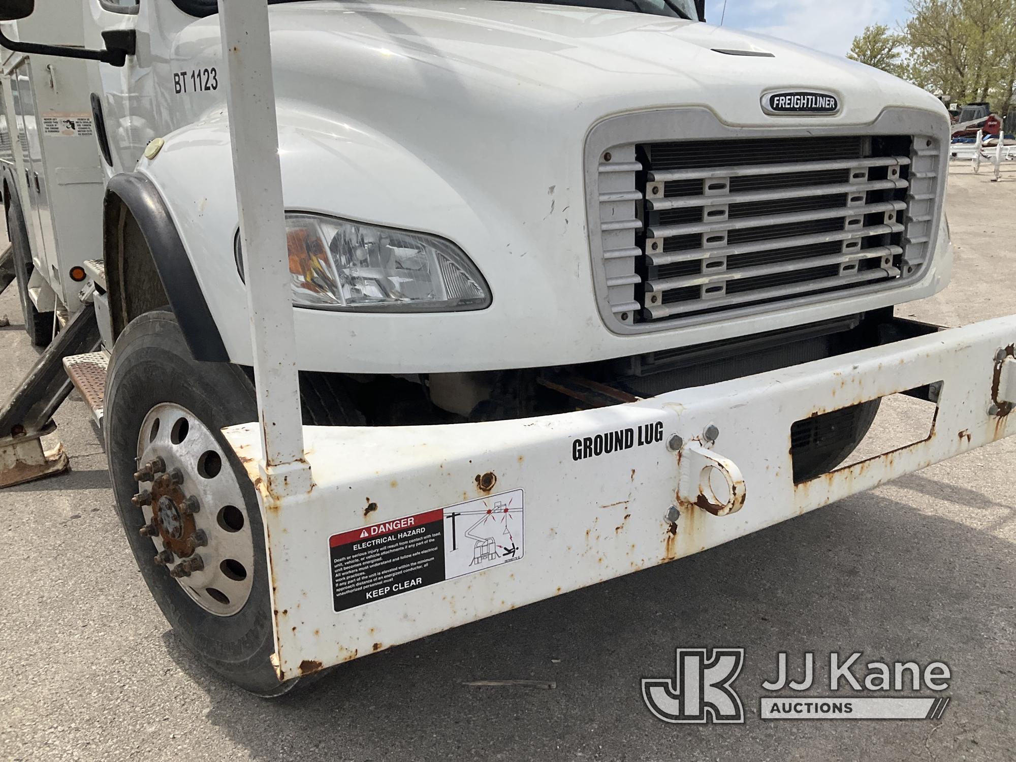
[[[194,267],[187,256],[180,233],[154,183],[136,172],[114,175],[110,180],[103,201],[104,251],[109,251],[115,245],[115,240],[111,240],[115,235],[111,221],[118,201],[127,207],[141,230],[163,290],[194,359],[203,362],[229,362],[230,355],[194,274]],[[113,277],[117,275],[110,272],[108,267],[107,278],[110,282],[113,282]]]

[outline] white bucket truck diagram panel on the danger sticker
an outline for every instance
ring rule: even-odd
[[[522,558],[521,490],[453,505],[444,516],[446,579]]]

